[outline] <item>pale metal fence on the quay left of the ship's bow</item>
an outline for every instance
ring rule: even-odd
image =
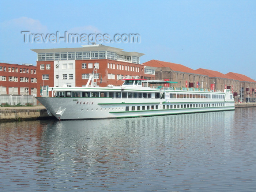
[[[0,105],[36,105],[34,95],[0,95]]]

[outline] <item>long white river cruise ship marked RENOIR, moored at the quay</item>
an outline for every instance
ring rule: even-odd
[[[92,82],[90,85],[90,81]],[[230,90],[167,87],[168,81],[124,79],[122,86],[49,87],[52,97],[37,97],[59,120],[128,118],[234,110]]]

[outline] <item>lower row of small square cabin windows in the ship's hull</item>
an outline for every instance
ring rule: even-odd
[[[225,103],[198,103],[198,104],[177,104],[177,105],[163,105],[163,109],[181,109],[181,108],[202,108],[202,107],[223,107]],[[150,110],[158,109],[158,105],[143,105],[143,106],[126,106],[125,111],[129,110]]]

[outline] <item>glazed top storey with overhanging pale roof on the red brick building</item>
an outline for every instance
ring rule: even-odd
[[[105,45],[83,45],[81,48],[32,49],[37,61],[110,59],[140,64],[143,53],[125,52]]]

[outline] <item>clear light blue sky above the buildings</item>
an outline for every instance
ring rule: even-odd
[[[155,59],[256,80],[255,10],[255,0],[1,0],[0,62],[35,65],[31,49],[97,42],[144,53],[141,64]]]

